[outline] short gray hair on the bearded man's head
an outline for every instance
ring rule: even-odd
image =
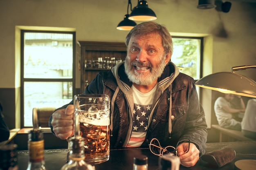
[[[143,36],[150,33],[157,33],[162,38],[162,46],[164,47],[164,52],[173,53],[173,40],[171,35],[166,28],[166,26],[158,24],[157,22],[142,22],[133,27],[128,35],[126,36],[126,46],[128,46],[130,38],[135,37],[136,35]]]

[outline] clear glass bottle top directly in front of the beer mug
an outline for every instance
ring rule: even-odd
[[[84,159],[84,138],[83,137],[71,137],[69,139],[69,162],[65,164],[61,170],[95,170],[94,166],[91,166]]]

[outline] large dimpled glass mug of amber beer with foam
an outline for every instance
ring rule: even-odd
[[[85,162],[108,161],[110,148],[110,100],[108,95],[74,96],[74,135],[85,139]]]

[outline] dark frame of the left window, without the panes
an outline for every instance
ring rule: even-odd
[[[24,78],[24,35],[25,33],[62,33],[62,34],[72,34],[72,49],[73,49],[73,63],[72,63],[72,78]],[[25,82],[72,82],[72,94],[74,96],[76,91],[76,32],[75,31],[40,31],[40,30],[20,30],[20,127],[28,128],[30,126],[25,126],[24,120],[24,83]],[[32,110],[31,110],[32,112]]]

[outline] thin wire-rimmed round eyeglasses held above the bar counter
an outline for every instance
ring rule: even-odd
[[[190,139],[189,139],[189,146],[190,146]],[[163,156],[164,154],[177,156],[177,148],[173,146],[166,146],[165,148],[162,148],[162,146],[160,145],[160,142],[156,138],[153,138],[150,141],[149,149],[154,155],[157,155],[159,157]],[[186,153],[187,152],[189,152],[189,148],[186,151]]]

